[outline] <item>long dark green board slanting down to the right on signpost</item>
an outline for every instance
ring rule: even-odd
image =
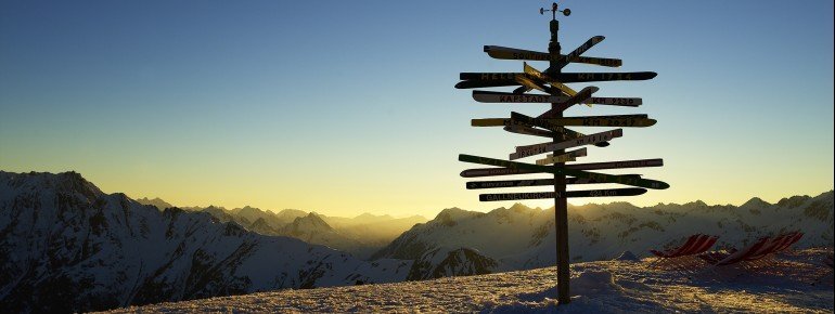
[[[508,160],[487,158],[487,157],[478,157],[478,156],[465,155],[465,154],[460,154],[458,156],[458,160],[464,161],[464,162],[504,167],[508,169],[519,169],[519,170],[529,170],[535,172],[564,174],[564,175],[570,175],[576,178],[586,178],[586,179],[592,179],[592,180],[606,182],[606,183],[619,183],[619,184],[638,186],[638,187],[656,188],[656,189],[664,189],[664,188],[670,187],[669,184],[660,181],[656,181],[656,180],[634,179],[634,178],[622,176],[622,175],[588,172],[582,170],[568,169],[565,167],[530,165],[530,163],[508,161]]]

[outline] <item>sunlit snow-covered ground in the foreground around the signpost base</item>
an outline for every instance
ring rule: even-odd
[[[115,310],[154,312],[810,312],[832,313],[833,277],[823,260],[832,249],[780,256],[744,269],[682,273],[641,262],[578,263],[571,303],[556,306],[555,269],[425,282],[282,290]],[[627,254],[628,256],[628,254]]]

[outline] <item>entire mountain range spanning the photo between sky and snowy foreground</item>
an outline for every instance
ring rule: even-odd
[[[104,194],[75,172],[0,171],[0,313],[86,312],[476,275],[550,266],[555,260],[553,208],[516,204],[486,213],[450,208],[421,223],[421,217],[180,209],[158,198],[140,200],[149,205]],[[798,247],[831,247],[833,192],[773,205],[754,198],[740,207],[701,201],[569,207],[573,261],[624,251],[646,256],[650,248],[676,245],[694,233],[719,235],[718,246],[738,247],[794,230],[806,233]],[[375,247],[373,253],[368,249]]]

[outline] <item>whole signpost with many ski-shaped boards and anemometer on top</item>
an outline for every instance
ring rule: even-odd
[[[560,22],[556,13],[562,12],[568,16],[570,10],[560,10],[553,3],[550,10],[540,9],[540,14],[551,12],[550,23],[551,40],[548,52],[538,52],[499,45],[485,45],[484,51],[490,57],[497,60],[516,60],[548,62],[549,67],[540,71],[523,62],[523,73],[462,73],[461,82],[455,84],[459,89],[516,87],[512,93],[498,91],[473,91],[473,99],[480,103],[530,103],[551,104],[543,114],[527,116],[512,112],[509,118],[473,119],[473,127],[504,127],[512,133],[542,136],[551,139],[551,142],[517,146],[516,152],[509,159],[521,159],[535,155],[549,155],[536,163],[517,162],[502,159],[493,159],[473,155],[459,155],[459,160],[493,168],[467,169],[461,172],[464,178],[496,176],[496,175],[522,175],[550,173],[553,179],[526,179],[504,181],[472,181],[466,183],[468,189],[528,187],[553,185],[553,192],[523,192],[523,193],[496,193],[480,194],[481,201],[501,201],[518,199],[554,199],[554,224],[556,235],[556,279],[557,301],[565,304],[570,301],[568,282],[568,218],[567,202],[571,197],[612,197],[634,196],[646,193],[646,188],[664,189],[669,184],[643,179],[639,174],[606,174],[590,172],[589,170],[626,169],[643,167],[660,167],[661,159],[622,160],[590,163],[566,163],[577,157],[586,156],[587,148],[565,152],[566,148],[593,144],[599,147],[608,146],[608,141],[624,135],[622,129],[614,129],[594,134],[582,134],[568,127],[651,127],[656,120],[646,115],[627,116],[565,116],[565,110],[576,104],[601,104],[625,107],[638,107],[642,100],[638,97],[595,97],[596,87],[586,87],[578,93],[566,83],[593,82],[593,81],[631,81],[648,80],[656,76],[652,71],[635,73],[562,73],[562,68],[568,64],[591,64],[607,67],[619,67],[622,62],[619,58],[589,57],[582,54],[603,41],[603,36],[594,36],[569,54],[561,54],[561,45],[557,37]],[[545,94],[528,94],[530,90],[538,90]],[[551,165],[553,163],[553,165]],[[632,187],[611,189],[584,189],[566,191],[566,185],[614,183]]]

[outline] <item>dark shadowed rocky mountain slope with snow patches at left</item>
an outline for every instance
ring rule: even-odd
[[[74,172],[0,171],[0,313],[401,282],[411,264],[364,262],[206,213],[159,211]]]

